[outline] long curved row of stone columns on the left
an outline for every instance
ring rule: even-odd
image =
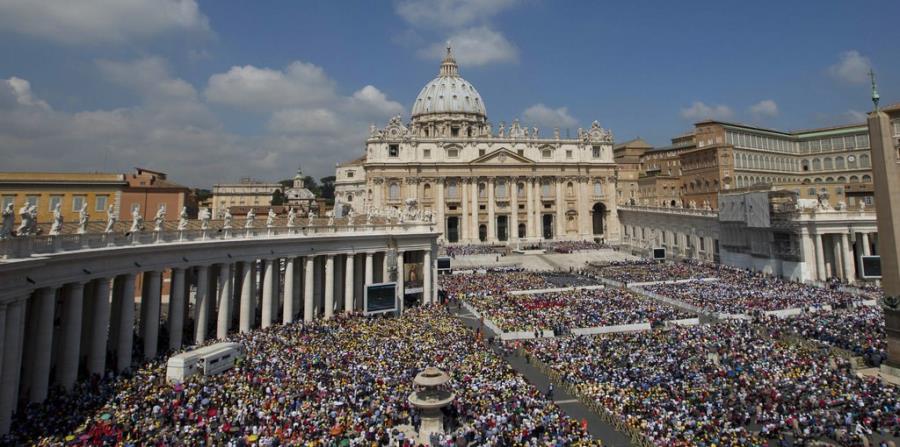
[[[0,303],[0,433],[9,431],[18,405],[43,401],[53,386],[70,391],[80,377],[124,372],[234,332],[360,312],[365,286],[375,282],[396,281],[402,306],[404,261],[422,262],[420,303],[429,304],[437,298],[430,246],[395,249],[395,278],[385,250],[270,250],[270,257],[181,257],[155,268],[133,261],[133,269],[109,275],[82,268],[88,279],[22,290]]]

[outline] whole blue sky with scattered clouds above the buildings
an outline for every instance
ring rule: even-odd
[[[900,101],[900,2],[0,0],[0,170],[316,178],[409,120],[445,42],[494,128],[862,122]]]

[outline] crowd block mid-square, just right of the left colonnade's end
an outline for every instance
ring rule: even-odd
[[[615,288],[470,295],[466,302],[503,332],[552,330],[560,334],[572,329],[655,324],[693,316]]]

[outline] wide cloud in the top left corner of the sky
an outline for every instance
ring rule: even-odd
[[[195,0],[0,0],[0,30],[66,45],[210,33]]]

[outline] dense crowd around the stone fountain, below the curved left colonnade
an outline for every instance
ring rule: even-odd
[[[238,365],[166,381],[162,361],[82,382],[20,411],[10,444],[421,445],[407,400],[427,366],[456,399],[432,445],[590,445],[564,416],[446,308],[397,318],[339,317],[234,335]]]

